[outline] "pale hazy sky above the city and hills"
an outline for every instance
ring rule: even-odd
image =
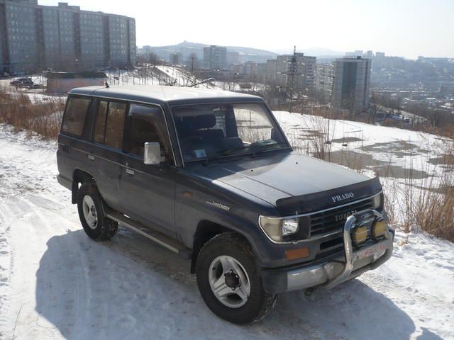
[[[65,1],[135,18],[138,46],[187,40],[274,52],[296,45],[301,51],[454,57],[454,0]],[[57,2],[38,0],[50,6]]]

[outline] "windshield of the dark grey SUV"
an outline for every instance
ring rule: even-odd
[[[172,115],[184,161],[288,148],[260,103],[176,106]]]

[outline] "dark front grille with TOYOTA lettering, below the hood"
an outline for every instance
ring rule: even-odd
[[[341,208],[334,208],[325,212],[310,215],[311,219],[311,236],[324,234],[326,232],[341,232],[345,220],[355,212],[373,209],[374,198],[362,200],[358,203],[345,205]]]

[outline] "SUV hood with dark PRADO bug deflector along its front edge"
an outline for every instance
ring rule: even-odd
[[[381,191],[378,179],[296,153],[199,165],[193,171],[261,198],[286,215],[329,208]]]

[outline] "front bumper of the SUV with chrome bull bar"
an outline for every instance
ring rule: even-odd
[[[380,215],[378,212],[375,214]],[[345,255],[317,265],[262,271],[265,290],[279,294],[312,287],[331,289],[365,271],[381,266],[392,256],[394,230],[388,228],[380,241],[353,251],[350,229],[355,222],[356,217],[352,215],[348,217],[343,228]]]

